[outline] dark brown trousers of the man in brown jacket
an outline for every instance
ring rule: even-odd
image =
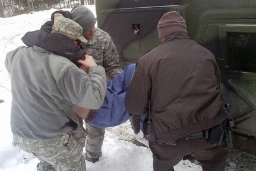
[[[227,150],[208,143],[206,139],[179,140],[175,146],[150,141],[149,146],[153,153],[154,171],[173,171],[173,166],[188,154],[195,156],[203,171],[225,170]]]

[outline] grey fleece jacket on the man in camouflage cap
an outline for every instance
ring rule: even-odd
[[[105,69],[87,75],[65,57],[40,47],[18,47],[7,53],[11,74],[12,133],[31,140],[50,140],[79,124],[74,105],[97,109],[106,94]]]

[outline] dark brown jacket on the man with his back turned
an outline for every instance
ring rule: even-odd
[[[159,143],[211,128],[227,117],[220,112],[215,57],[185,33],[170,34],[138,60],[126,96],[128,112],[146,113],[149,99]]]

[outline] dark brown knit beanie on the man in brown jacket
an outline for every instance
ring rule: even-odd
[[[158,37],[161,39],[171,33],[188,33],[185,20],[176,11],[167,12],[157,24]]]

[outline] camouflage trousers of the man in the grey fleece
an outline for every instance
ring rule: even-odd
[[[14,135],[12,144],[40,160],[37,171],[86,171],[83,147],[86,140],[83,120],[78,131],[71,131],[49,141],[29,140]]]

